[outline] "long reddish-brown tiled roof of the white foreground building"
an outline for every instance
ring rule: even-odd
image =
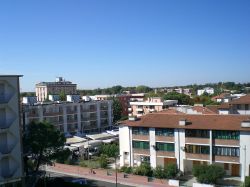
[[[186,126],[180,126],[179,121],[187,120]],[[158,127],[181,129],[211,129],[211,130],[240,130],[250,131],[250,128],[242,128],[241,122],[250,120],[248,115],[188,115],[188,114],[164,114],[155,113],[142,116],[137,121],[123,121],[122,124],[133,127]]]

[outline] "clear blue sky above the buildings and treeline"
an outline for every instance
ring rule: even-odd
[[[0,74],[21,91],[250,81],[249,0],[1,0]]]

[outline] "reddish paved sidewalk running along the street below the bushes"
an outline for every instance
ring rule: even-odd
[[[111,175],[107,175],[106,169],[94,169],[95,174],[90,172],[89,168],[65,165],[65,164],[55,164],[55,166],[47,166],[47,171],[73,175],[77,177],[83,177],[92,180],[105,181],[110,183],[115,183],[115,172],[112,171]],[[117,181],[119,184],[129,185],[129,186],[140,186],[140,187],[169,187],[167,180],[155,179],[152,182],[147,181],[148,178],[144,176],[129,174],[128,178],[123,177],[123,173],[117,174]]]

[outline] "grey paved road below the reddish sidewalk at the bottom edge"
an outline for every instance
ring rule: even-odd
[[[54,172],[46,172],[47,176],[49,177],[60,177],[65,179],[66,181],[71,181],[72,179],[77,179],[78,177],[75,176],[70,176],[70,175],[65,175],[61,173],[54,173]],[[109,183],[109,182],[104,182],[104,181],[97,181],[97,180],[90,180],[87,179],[88,184],[91,187],[116,187],[114,183]],[[123,184],[117,184],[117,187],[131,187]]]

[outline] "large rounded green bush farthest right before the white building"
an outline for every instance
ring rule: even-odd
[[[205,184],[215,184],[225,175],[224,169],[216,164],[194,166],[192,173],[198,182]]]

